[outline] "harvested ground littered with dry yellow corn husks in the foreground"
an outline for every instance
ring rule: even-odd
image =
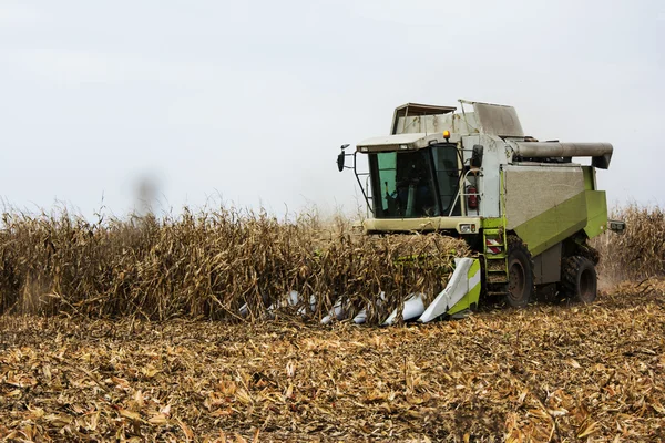
[[[393,328],[0,318],[8,441],[665,441],[665,295]]]

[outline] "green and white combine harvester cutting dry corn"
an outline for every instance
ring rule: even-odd
[[[372,215],[367,234],[437,231],[464,238],[475,251],[458,260],[429,306],[418,295],[407,300],[405,320],[473,307],[481,289],[518,308],[548,285],[581,302],[595,299],[598,255],[587,241],[624,228],[607,220],[605,192],[596,187],[611,144],[539,142],[524,134],[512,106],[460,100],[459,111],[399,106],[390,135],[362,141],[352,154],[347,147],[337,163],[354,169],[362,189]],[[368,172],[358,171],[358,155],[367,156]],[[591,165],[573,157],[591,157]]]

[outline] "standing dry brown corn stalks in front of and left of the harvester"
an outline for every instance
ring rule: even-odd
[[[468,254],[439,235],[370,238],[344,219],[325,227],[316,216],[287,223],[226,208],[95,224],[8,213],[3,225],[0,309],[47,316],[236,319],[247,303],[256,320],[297,290],[307,306],[316,297],[313,319],[341,296],[356,310],[369,306],[371,322],[382,291],[383,311],[410,292],[437,293],[452,257]]]

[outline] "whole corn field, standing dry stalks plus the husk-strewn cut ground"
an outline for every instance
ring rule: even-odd
[[[663,213],[613,217],[627,229],[594,239],[600,275],[638,282],[592,305],[356,328],[299,311],[317,320],[341,296],[376,323],[378,293],[387,309],[434,293],[466,245],[315,214],[8,212],[0,440],[664,441]],[[293,289],[315,303],[257,321]]]

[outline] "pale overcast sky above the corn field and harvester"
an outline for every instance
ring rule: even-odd
[[[665,205],[663,1],[0,0],[0,196],[352,212],[335,157],[406,102],[511,104],[610,142],[611,205]],[[221,197],[219,197],[221,196]]]

